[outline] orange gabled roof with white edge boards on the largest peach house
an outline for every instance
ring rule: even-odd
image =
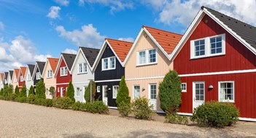
[[[130,54],[133,52],[133,49],[136,46],[143,32],[147,33],[147,36],[149,36],[151,40],[155,43],[155,45],[158,46],[160,51],[166,55],[168,60],[170,60],[170,57],[168,56],[168,54],[171,54],[174,51],[175,47],[177,46],[180,39],[182,38],[182,35],[180,34],[163,31],[157,28],[152,28],[152,27],[143,25],[141,28],[141,31],[139,31],[139,35],[136,37],[136,40],[133,43],[133,46],[128,52],[128,55],[125,57],[125,61],[123,65],[125,65],[125,63],[127,62],[128,58],[130,57]]]

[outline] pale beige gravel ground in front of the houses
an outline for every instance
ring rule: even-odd
[[[0,100],[0,137],[256,137]]]

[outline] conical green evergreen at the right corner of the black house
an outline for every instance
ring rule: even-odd
[[[117,100],[115,100],[117,106],[121,102],[125,102],[126,105],[131,103],[131,97],[129,97],[129,90],[125,83],[125,77],[122,76],[121,81],[119,83],[119,90],[117,92]]]

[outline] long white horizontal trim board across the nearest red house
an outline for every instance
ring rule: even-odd
[[[212,73],[193,73],[193,74],[180,74],[179,77],[191,77],[191,76],[213,76],[213,75],[225,75],[235,73],[255,73],[256,69],[251,70],[233,70],[233,71],[220,71]]]

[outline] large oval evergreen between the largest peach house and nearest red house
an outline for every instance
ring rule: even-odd
[[[174,113],[182,103],[181,81],[175,70],[170,70],[159,84],[160,107],[168,114]]]

